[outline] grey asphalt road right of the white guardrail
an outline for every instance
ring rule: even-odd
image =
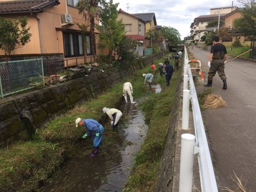
[[[201,61],[206,84],[210,51],[195,46],[189,51]],[[224,187],[235,191],[237,184],[232,178],[236,174],[246,191],[253,192],[256,191],[256,63],[235,59],[226,64],[225,74],[227,90],[222,89],[218,74],[211,89],[226,101],[227,107],[202,112],[217,185],[219,191],[224,191]],[[200,85],[197,89],[209,88]]]

